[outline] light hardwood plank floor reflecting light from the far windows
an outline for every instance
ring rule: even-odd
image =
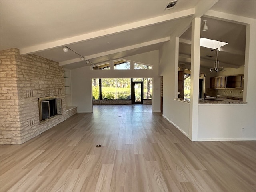
[[[151,111],[94,106],[22,145],[0,146],[0,191],[256,191],[256,142],[191,142]]]

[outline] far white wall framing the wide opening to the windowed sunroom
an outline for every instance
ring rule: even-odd
[[[153,65],[153,70],[91,70],[90,66],[71,71],[72,105],[78,112],[92,112],[92,78],[153,78],[152,111],[160,112],[160,77],[158,76],[158,50],[123,58]]]

